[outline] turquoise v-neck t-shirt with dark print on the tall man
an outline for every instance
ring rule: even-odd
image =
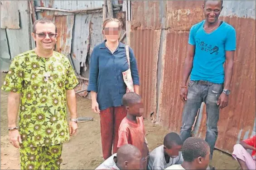
[[[236,31],[223,22],[216,30],[207,33],[203,30],[204,23],[205,20],[190,29],[188,43],[195,46],[190,79],[223,83],[225,51],[236,50]]]

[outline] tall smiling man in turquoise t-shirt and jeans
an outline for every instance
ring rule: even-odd
[[[198,109],[201,103],[205,102],[207,112],[205,140],[211,149],[211,159],[218,134],[219,109],[228,104],[236,50],[235,29],[218,18],[222,8],[222,1],[205,1],[203,5],[205,20],[190,29],[188,55],[184,63],[180,90],[180,97],[184,101],[181,138],[185,141],[191,136]]]

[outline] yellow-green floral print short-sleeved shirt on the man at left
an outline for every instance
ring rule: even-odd
[[[2,90],[20,93],[21,147],[57,145],[69,140],[66,90],[78,84],[65,55],[42,58],[34,50],[14,57]]]

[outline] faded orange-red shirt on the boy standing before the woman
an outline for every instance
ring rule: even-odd
[[[118,135],[117,147],[121,147],[124,144],[131,144],[140,149],[142,157],[143,170],[146,170],[148,163],[149,148],[145,141],[145,127],[143,117],[137,117],[137,124],[131,122],[127,118],[124,118],[120,124]]]

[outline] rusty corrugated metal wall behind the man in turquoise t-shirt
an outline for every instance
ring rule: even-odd
[[[150,113],[154,111],[155,114],[156,110],[156,123],[177,133],[180,131],[183,110],[179,89],[183,63],[187,55],[188,34],[193,24],[203,20],[202,5],[203,1],[131,3],[132,21],[128,38],[138,60],[140,92],[146,107],[145,117],[149,118]],[[223,6],[221,19],[236,29],[237,51],[231,85],[232,95],[229,106],[220,112],[216,148],[231,153],[233,145],[239,140],[255,134],[255,1],[223,1]],[[160,32],[160,39],[155,39],[154,33],[151,33],[151,37],[145,40],[145,32]],[[158,58],[149,54],[149,51],[143,52],[144,49],[158,49]],[[152,61],[155,65],[147,65]],[[157,70],[157,74],[148,70]],[[154,88],[157,89],[156,92],[152,90]],[[153,106],[152,102],[155,99],[156,105]],[[204,104],[198,113],[193,133],[194,136],[205,138]]]

